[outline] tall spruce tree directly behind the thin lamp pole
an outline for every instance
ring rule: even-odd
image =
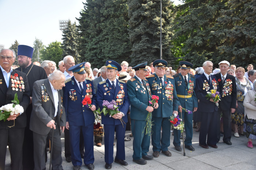
[[[160,59],[160,0],[128,0],[129,38],[132,43],[131,64]],[[162,0],[162,58],[172,63],[170,32],[172,2]],[[170,64],[169,64],[170,65]]]

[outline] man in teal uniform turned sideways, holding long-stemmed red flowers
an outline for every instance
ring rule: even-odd
[[[128,80],[127,89],[131,102],[131,127],[133,134],[133,162],[140,165],[147,163],[146,160],[152,160],[152,155],[147,155],[150,146],[150,135],[146,135],[146,118],[148,112],[152,112],[158,108],[158,103],[154,104],[154,108],[150,106],[151,91],[147,74],[147,62],[139,64],[132,69],[135,70],[134,78]]]

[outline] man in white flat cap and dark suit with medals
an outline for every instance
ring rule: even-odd
[[[215,74],[217,83],[219,86],[219,92],[221,101],[219,102],[219,115],[222,113],[223,118],[223,142],[227,145],[232,145],[231,139],[231,113],[236,110],[237,90],[236,90],[236,78],[230,74],[227,74],[229,70],[229,62],[222,61],[219,63],[219,69],[221,72]],[[220,122],[218,121],[218,124]],[[218,141],[221,135],[218,133]]]

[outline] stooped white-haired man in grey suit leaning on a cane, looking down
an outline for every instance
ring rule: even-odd
[[[30,118],[30,130],[34,139],[34,169],[46,169],[45,146],[46,138],[52,139],[52,169],[61,170],[61,129],[64,131],[66,116],[63,108],[63,91],[65,86],[63,72],[57,70],[48,79],[38,80],[34,83],[32,104],[33,111]],[[57,123],[55,125],[54,123]],[[51,129],[54,129],[53,131]]]

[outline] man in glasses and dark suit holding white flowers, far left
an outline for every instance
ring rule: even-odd
[[[27,75],[11,66],[16,58],[15,52],[3,49],[0,52],[0,107],[12,103],[17,93],[20,106],[24,112],[29,106],[30,90]],[[14,121],[15,120],[15,121]],[[5,168],[7,143],[10,149],[12,170],[22,169],[22,144],[26,127],[26,114],[10,115],[7,121],[0,120],[0,169]],[[14,126],[15,123],[15,126]]]

